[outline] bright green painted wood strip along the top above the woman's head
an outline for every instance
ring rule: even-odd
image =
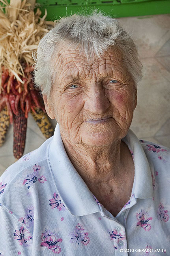
[[[118,0],[110,1],[95,1],[90,0],[78,1],[78,0],[37,0],[37,5],[39,5],[42,14],[45,8],[47,9],[47,20],[54,21],[60,19],[60,17],[66,14],[74,14],[82,12],[84,9],[87,13],[91,9],[90,7],[95,7],[104,11],[106,15],[112,17],[131,17],[131,16],[143,16],[143,15],[154,15],[154,14],[165,14],[170,13],[170,0]],[[48,2],[48,4],[47,4]],[[95,4],[95,2],[102,2],[102,4]],[[107,3],[106,3],[107,2]],[[54,5],[54,3],[57,3]],[[89,5],[90,4],[90,5]]]

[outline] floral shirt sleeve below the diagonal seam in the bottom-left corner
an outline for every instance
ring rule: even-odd
[[[32,234],[0,203],[0,256],[32,255]]]

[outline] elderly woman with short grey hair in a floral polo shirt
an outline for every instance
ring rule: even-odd
[[[97,12],[40,41],[35,83],[58,124],[0,178],[0,255],[170,255],[168,149],[129,130],[141,66]]]

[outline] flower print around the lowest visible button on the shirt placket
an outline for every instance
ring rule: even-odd
[[[114,248],[117,250],[118,248],[126,247],[126,235],[123,230],[117,231],[116,229],[112,231],[108,231],[110,235],[110,240],[114,240]],[[120,242],[123,242],[123,245],[120,245]]]

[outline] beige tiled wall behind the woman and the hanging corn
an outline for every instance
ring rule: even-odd
[[[140,139],[170,147],[170,15],[119,19],[138,47],[143,64],[143,79],[138,85],[138,104],[131,129]],[[56,121],[52,120],[55,127]],[[28,116],[24,154],[45,141],[32,115]],[[13,126],[0,147],[0,175],[15,162]]]

